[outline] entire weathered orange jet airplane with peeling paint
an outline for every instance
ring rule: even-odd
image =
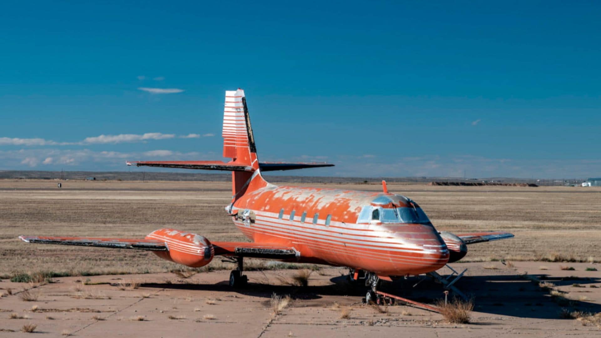
[[[19,236],[25,242],[148,250],[162,259],[197,268],[215,256],[230,257],[237,268],[230,286],[243,287],[245,257],[349,268],[349,280],[365,283],[365,300],[380,300],[380,281],[428,274],[445,285],[454,280],[436,271],[457,262],[467,245],[511,238],[507,232],[455,235],[438,232],[424,210],[403,195],[382,191],[276,186],[261,173],[330,167],[327,163],[259,162],[242,89],[225,92],[223,157],[231,161],[141,161],[127,165],[224,170],[232,173],[232,200],[225,211],[251,242],[211,242],[204,236],[159,229],[145,239]],[[454,271],[456,274],[456,271]]]

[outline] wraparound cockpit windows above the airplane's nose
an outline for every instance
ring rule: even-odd
[[[357,223],[406,223],[406,224],[432,224],[421,207],[383,208],[379,206],[364,206],[359,214]]]

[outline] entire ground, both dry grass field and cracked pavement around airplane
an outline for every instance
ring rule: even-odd
[[[53,337],[224,332],[234,337],[598,337],[601,332],[601,315],[594,316],[601,313],[599,188],[389,184],[391,192],[416,200],[438,230],[516,235],[470,245],[465,259],[453,263],[458,270],[468,268],[456,285],[475,306],[469,324],[449,324],[439,313],[403,304],[362,304],[362,291],[346,281],[344,268],[251,260],[249,287],[234,290],[227,285],[233,265],[219,259],[210,269],[182,269],[143,251],[19,241],[19,235],[143,238],[162,227],[215,241],[245,241],[224,212],[230,201],[227,182],[67,181],[61,189],[56,183],[0,180],[2,337],[26,336],[22,331],[28,328]],[[10,281],[19,274],[41,278]],[[308,286],[295,282],[302,275]],[[444,297],[439,284],[418,281],[386,283],[383,290],[430,304]]]

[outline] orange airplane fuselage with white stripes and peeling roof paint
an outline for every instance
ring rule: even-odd
[[[257,182],[255,182],[257,181]],[[257,244],[293,247],[300,262],[403,276],[436,271],[449,251],[419,206],[383,192],[275,186],[260,176],[230,206]],[[229,209],[229,208],[228,208]]]

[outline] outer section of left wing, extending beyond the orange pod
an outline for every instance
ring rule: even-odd
[[[103,247],[150,251],[168,251],[163,241],[153,239],[92,238],[92,237],[46,237],[19,236],[22,241],[40,244],[80,245],[83,247]]]

